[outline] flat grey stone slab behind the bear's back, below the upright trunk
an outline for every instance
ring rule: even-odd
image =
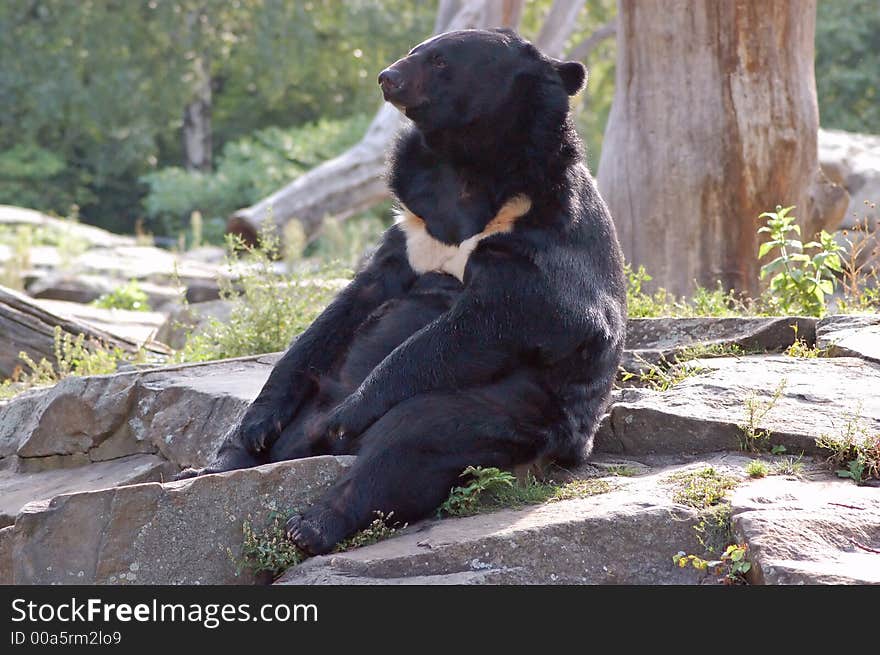
[[[672,363],[681,351],[699,346],[739,346],[745,352],[781,351],[797,336],[809,344],[816,319],[804,316],[731,316],[724,318],[631,318],[621,367],[635,373],[663,359]]]

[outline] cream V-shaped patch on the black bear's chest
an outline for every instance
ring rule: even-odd
[[[406,207],[402,207],[397,217],[397,224],[406,235],[406,256],[409,265],[419,275],[448,273],[459,281],[464,281],[465,266],[477,244],[492,234],[510,232],[516,219],[525,215],[531,207],[532,201],[526,196],[514,196],[504,203],[482,232],[465,239],[457,246],[451,246],[432,237],[425,228],[425,221]]]

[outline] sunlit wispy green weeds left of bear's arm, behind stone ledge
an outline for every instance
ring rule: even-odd
[[[178,361],[201,362],[284,350],[351,275],[339,267],[324,267],[309,274],[279,273],[275,263],[280,257],[280,242],[269,231],[260,235],[257,246],[248,246],[233,235],[229,235],[227,246],[230,275],[220,278],[220,295],[231,303],[229,318],[212,320],[203,332],[189,335],[177,353]],[[234,273],[238,274],[235,283]]]

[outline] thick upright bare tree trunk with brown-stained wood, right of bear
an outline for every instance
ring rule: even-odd
[[[843,217],[818,164],[815,18],[815,0],[618,0],[599,188],[657,286],[755,294],[761,212],[796,205],[804,237]]]

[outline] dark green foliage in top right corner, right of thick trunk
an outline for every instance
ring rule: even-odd
[[[816,92],[822,126],[854,132],[880,126],[880,11],[876,0],[820,0]]]

